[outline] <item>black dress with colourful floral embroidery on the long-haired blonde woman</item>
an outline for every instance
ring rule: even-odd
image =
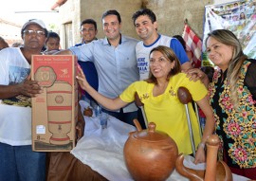
[[[209,96],[216,121],[216,134],[221,139],[220,158],[232,168],[256,167],[256,61],[247,60],[237,83],[239,108],[229,101],[227,70],[216,70],[210,83]]]

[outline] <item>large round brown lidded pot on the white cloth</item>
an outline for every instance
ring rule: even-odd
[[[155,131],[153,122],[147,130],[137,130],[130,134],[123,149],[128,171],[137,181],[166,180],[174,171],[178,155],[174,139]]]

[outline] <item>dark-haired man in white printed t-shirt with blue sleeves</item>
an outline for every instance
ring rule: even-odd
[[[145,80],[149,76],[149,54],[157,45],[166,45],[174,50],[181,63],[181,69],[192,67],[189,58],[179,41],[175,38],[161,35],[157,32],[155,13],[151,9],[139,9],[133,15],[137,35],[141,39],[136,46],[137,67],[139,79]]]

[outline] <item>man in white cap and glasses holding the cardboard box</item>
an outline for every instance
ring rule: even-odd
[[[0,180],[46,178],[46,153],[31,147],[31,98],[42,89],[30,79],[30,63],[47,33],[44,22],[29,20],[21,29],[24,46],[0,51]]]

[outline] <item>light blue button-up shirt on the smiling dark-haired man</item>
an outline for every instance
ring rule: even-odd
[[[93,62],[99,76],[99,93],[108,98],[117,98],[132,82],[138,81],[136,59],[137,40],[121,36],[120,44],[109,45],[107,38],[77,47],[70,47],[82,62]],[[137,111],[135,103],[123,108],[123,112]]]

